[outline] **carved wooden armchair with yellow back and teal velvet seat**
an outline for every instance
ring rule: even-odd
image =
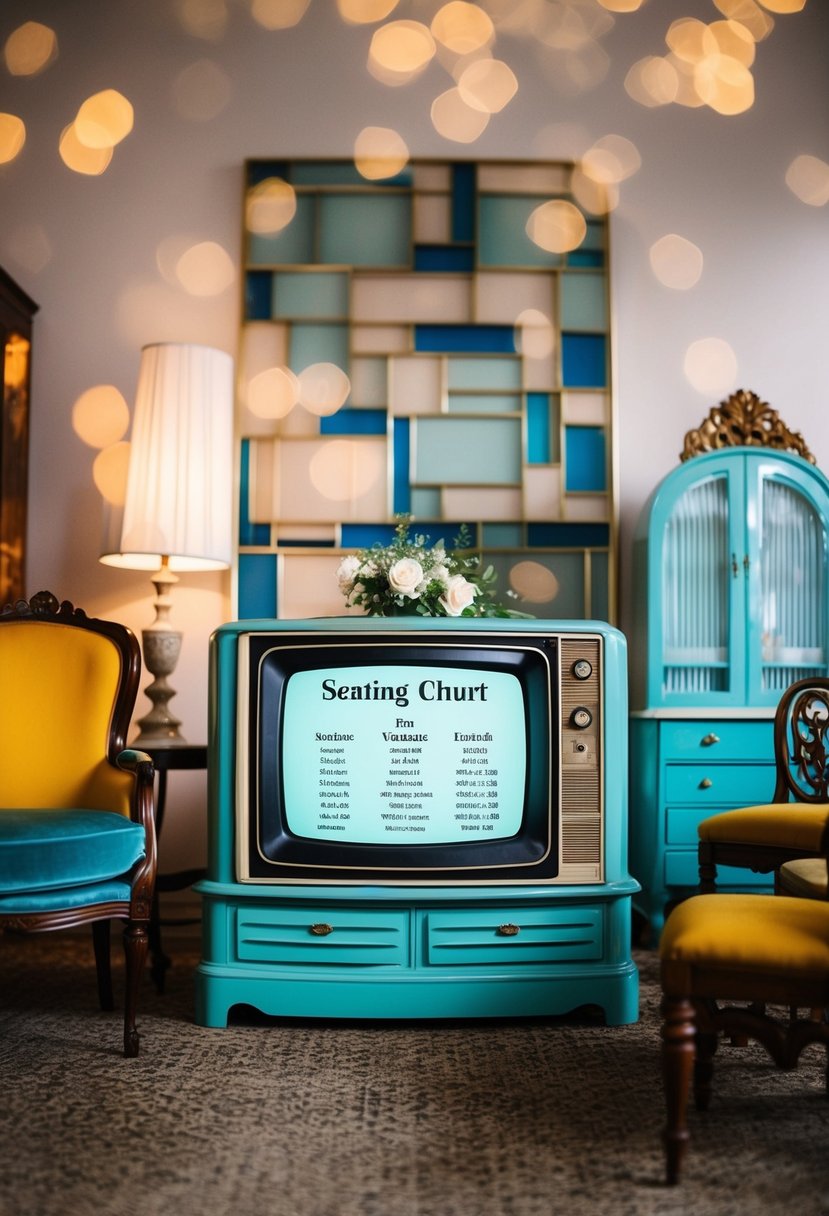
[[[0,933],[91,924],[112,1009],[109,923],[124,921],[128,1057],[156,882],[153,766],[125,748],[140,671],[125,626],[50,592],[0,612]]]

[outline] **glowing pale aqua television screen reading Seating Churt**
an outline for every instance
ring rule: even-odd
[[[509,671],[320,668],[287,681],[284,822],[315,840],[434,845],[521,826],[526,722]]]

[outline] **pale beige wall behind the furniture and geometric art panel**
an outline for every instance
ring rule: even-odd
[[[445,71],[433,64],[413,85],[380,85],[365,71],[371,27],[344,26],[334,0],[311,0],[301,23],[281,32],[264,30],[247,2],[230,0],[224,34],[213,36],[186,33],[181,7],[174,0],[6,0],[0,11],[0,43],[36,19],[57,32],[60,45],[41,75],[13,78],[0,68],[0,111],[18,114],[28,130],[21,156],[0,165],[0,264],[40,305],[29,593],[50,587],[136,630],[148,624],[146,576],[97,562],[95,452],[73,433],[73,402],[86,388],[112,383],[131,404],[147,342],[196,340],[235,354],[238,278],[218,295],[193,297],[164,280],[159,249],[214,241],[238,264],[243,159],[349,154],[370,124],[397,128],[416,157],[568,158],[609,133],[638,147],[642,168],[624,182],[611,218],[624,625],[633,522],[675,466],[684,432],[720,399],[687,381],[690,343],[727,340],[738,372],[726,392],[760,393],[829,468],[829,209],[805,206],[784,182],[799,153],[829,159],[823,0],[777,18],[757,49],[756,103],[733,118],[707,108],[645,109],[624,89],[636,60],[665,50],[671,18],[721,16],[709,0],[649,0],[641,12],[617,16],[600,41],[604,78],[581,92],[563,88],[563,61],[551,73],[549,52],[502,34],[496,54],[520,89],[473,145],[452,143],[430,124],[432,98],[451,83]],[[207,0],[197,6],[202,15],[210,7]],[[404,0],[396,16],[429,19],[435,7]],[[201,61],[226,88],[226,105],[210,120],[182,117],[176,103],[180,73]],[[107,88],[130,98],[135,129],[102,176],[80,176],[60,159],[58,136],[81,101]],[[693,291],[662,287],[650,271],[648,249],[669,232],[704,253]],[[193,741],[205,736],[208,635],[230,614],[229,576],[182,579],[175,617],[185,649],[174,706]],[[141,696],[139,713],[146,709]],[[203,776],[174,775],[171,793],[165,869],[197,865],[204,852]]]

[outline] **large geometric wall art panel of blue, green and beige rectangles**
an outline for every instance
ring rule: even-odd
[[[608,230],[573,169],[247,162],[239,618],[343,613],[340,557],[405,513],[466,524],[528,613],[614,620]]]

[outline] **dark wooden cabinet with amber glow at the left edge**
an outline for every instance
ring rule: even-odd
[[[34,300],[0,270],[0,604],[26,595],[32,320],[36,311]]]

